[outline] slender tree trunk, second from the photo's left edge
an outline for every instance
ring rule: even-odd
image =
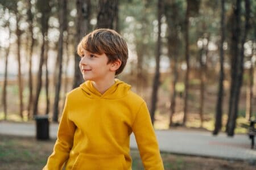
[[[21,31],[19,29],[20,16],[18,14],[18,9],[15,10],[16,15],[16,36],[17,36],[17,57],[18,57],[18,86],[19,86],[19,115],[23,120],[23,82],[21,73],[21,58],[20,58],[20,36]]]

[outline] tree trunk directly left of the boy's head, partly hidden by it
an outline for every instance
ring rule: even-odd
[[[90,25],[90,0],[76,1],[77,8],[77,20],[76,20],[76,46],[79,44],[82,37],[89,32]],[[75,78],[73,81],[73,88],[79,87],[79,85],[84,82],[82,74],[79,69],[80,57],[75,53]]]

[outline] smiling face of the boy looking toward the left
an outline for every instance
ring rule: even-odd
[[[83,55],[79,63],[79,67],[84,80],[103,80],[108,77],[109,74],[115,74],[111,67],[112,63],[108,63],[108,57],[105,53],[94,54],[88,50],[83,50]]]

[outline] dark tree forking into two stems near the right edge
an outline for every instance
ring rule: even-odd
[[[240,42],[241,36],[241,0],[236,1],[236,8],[234,8],[234,29],[232,32],[233,39],[233,60],[232,60],[232,83],[230,84],[230,101],[229,101],[229,114],[228,114],[228,122],[226,124],[226,133],[229,136],[234,135],[234,129],[236,128],[236,119],[238,112],[238,103],[240,99],[240,91],[242,86],[242,76],[243,76],[243,58],[244,58],[244,50],[243,45],[245,44],[247,32],[249,29],[249,18],[250,18],[250,1],[245,1],[245,31],[243,32],[243,36]],[[239,48],[241,43],[241,49]],[[231,98],[233,97],[233,98]]]

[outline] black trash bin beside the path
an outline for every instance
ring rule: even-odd
[[[49,139],[49,117],[48,115],[35,116],[36,121],[36,139],[48,140]]]

